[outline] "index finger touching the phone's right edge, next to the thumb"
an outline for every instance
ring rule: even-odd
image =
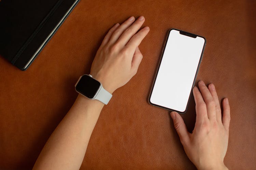
[[[208,121],[207,108],[199,89],[193,88],[193,95],[196,102],[196,124]]]

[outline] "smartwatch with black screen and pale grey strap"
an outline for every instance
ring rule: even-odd
[[[75,84],[75,90],[88,99],[96,99],[104,104],[108,104],[112,97],[112,95],[102,87],[102,84],[90,74],[84,74],[79,78]]]

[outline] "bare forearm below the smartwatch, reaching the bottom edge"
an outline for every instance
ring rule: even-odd
[[[79,95],[46,142],[33,169],[79,169],[104,104]]]

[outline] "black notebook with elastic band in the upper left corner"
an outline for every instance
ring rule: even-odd
[[[79,0],[1,0],[0,54],[26,70]]]

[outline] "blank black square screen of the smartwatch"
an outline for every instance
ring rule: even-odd
[[[76,91],[89,99],[92,99],[96,95],[99,88],[100,82],[91,78],[89,75],[83,75],[75,87]]]

